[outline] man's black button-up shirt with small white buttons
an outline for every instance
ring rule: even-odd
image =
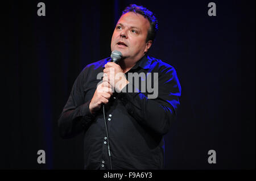
[[[61,137],[84,134],[84,168],[110,169],[108,138],[102,108],[90,113],[90,100],[101,79],[105,58],[87,65],[77,77],[63,112],[59,117]],[[139,85],[130,82],[122,92],[114,92],[105,105],[109,145],[113,169],[163,169],[163,136],[170,129],[179,106],[181,87],[175,69],[161,60],[144,56],[127,73],[145,73]],[[158,73],[158,96],[148,99],[150,92],[141,91],[142,82]],[[128,76],[127,76],[128,79]],[[157,85],[152,81],[152,87]],[[131,86],[133,92],[127,91]],[[125,92],[126,90],[126,92]],[[151,93],[152,94],[152,93]]]

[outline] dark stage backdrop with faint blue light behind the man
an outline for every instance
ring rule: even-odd
[[[182,87],[166,169],[255,169],[255,1],[42,1],[38,16],[39,2],[1,2],[0,169],[83,168],[82,134],[61,139],[57,119],[80,71],[110,56],[130,3],[156,14],[150,55],[174,66]]]

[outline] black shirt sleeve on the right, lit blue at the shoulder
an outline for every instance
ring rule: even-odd
[[[158,97],[148,97],[129,83],[133,90],[129,92],[129,84],[123,87],[119,94],[123,104],[131,116],[142,125],[146,125],[158,134],[166,134],[175,119],[177,107],[180,104],[181,86],[174,68],[160,71],[158,77]],[[135,89],[134,89],[135,88]],[[125,91],[123,91],[125,90]]]

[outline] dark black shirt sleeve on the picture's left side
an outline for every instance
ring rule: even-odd
[[[84,70],[85,71],[85,70]],[[58,120],[60,136],[71,138],[82,132],[94,120],[95,114],[90,113],[90,100],[84,102],[82,71],[73,84],[71,94]]]

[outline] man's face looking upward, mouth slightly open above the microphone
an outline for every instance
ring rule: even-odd
[[[117,22],[111,50],[119,50],[123,58],[139,60],[150,48],[152,41],[146,42],[150,22],[140,14],[127,12]]]

